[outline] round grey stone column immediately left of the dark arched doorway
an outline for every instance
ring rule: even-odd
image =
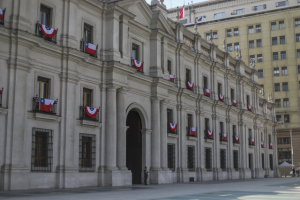
[[[120,170],[127,170],[125,93],[123,88],[117,90],[117,166]]]

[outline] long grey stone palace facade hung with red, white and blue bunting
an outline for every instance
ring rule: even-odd
[[[0,8],[1,190],[139,184],[145,166],[151,184],[277,175],[275,142],[261,145],[276,140],[275,110],[259,98],[257,70],[168,19],[163,4]]]

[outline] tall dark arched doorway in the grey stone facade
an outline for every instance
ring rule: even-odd
[[[142,180],[142,120],[138,112],[130,111],[126,126],[126,167],[131,170],[132,184],[141,184]]]

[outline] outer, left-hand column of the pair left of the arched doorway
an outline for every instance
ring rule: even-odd
[[[105,166],[112,171],[117,170],[117,88],[107,88],[106,93]]]

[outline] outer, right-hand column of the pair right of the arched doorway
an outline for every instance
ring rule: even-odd
[[[167,157],[167,106],[166,101],[160,102],[160,148],[161,148],[161,167],[168,170],[168,157]]]

